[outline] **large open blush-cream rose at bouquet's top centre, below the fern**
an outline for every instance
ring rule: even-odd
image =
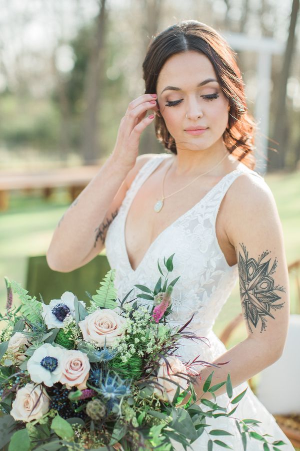
[[[120,331],[120,327],[124,324],[125,319],[111,309],[95,310],[87,315],[83,321],[78,323],[81,329],[83,339],[91,341],[97,346],[112,346],[117,337],[121,337],[124,331]]]

